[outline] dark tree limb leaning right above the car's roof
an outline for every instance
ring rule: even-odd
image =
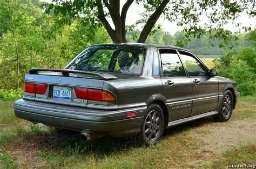
[[[156,24],[158,18],[164,11],[165,6],[170,2],[170,0],[163,0],[163,2],[158,6],[156,11],[150,16],[149,20],[147,20],[142,32],[140,33],[138,43],[145,43],[147,36],[152,30],[154,24]]]

